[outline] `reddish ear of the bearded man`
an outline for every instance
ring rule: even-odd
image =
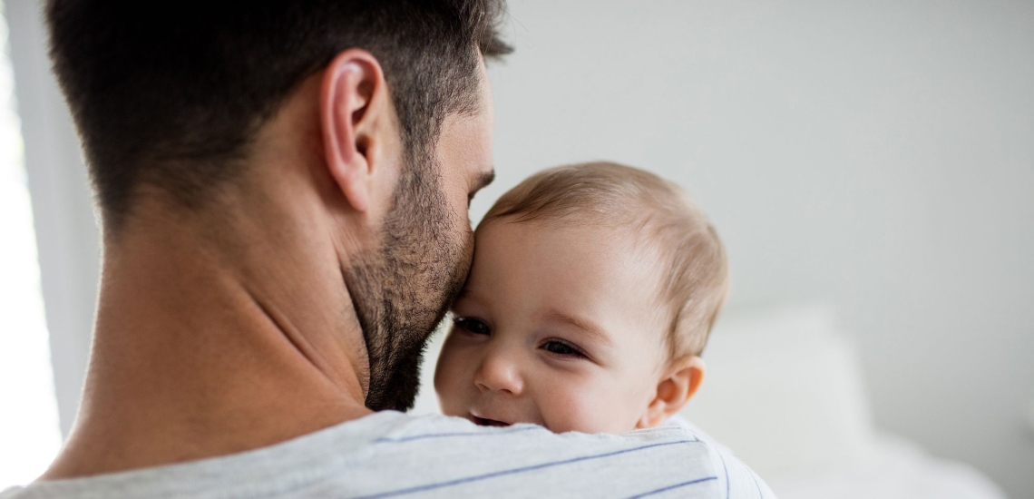
[[[324,154],[331,177],[357,211],[369,208],[381,134],[391,112],[384,71],[369,52],[349,49],[327,65],[320,90]]]

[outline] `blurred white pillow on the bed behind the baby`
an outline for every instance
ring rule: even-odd
[[[804,477],[864,460],[872,442],[855,350],[827,307],[720,321],[682,415],[761,476]]]

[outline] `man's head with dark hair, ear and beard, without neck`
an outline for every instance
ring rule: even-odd
[[[105,240],[153,225],[155,203],[206,221],[235,197],[275,204],[272,179],[293,169],[334,233],[367,404],[407,407],[469,264],[468,199],[491,175],[484,60],[510,50],[501,14],[500,0],[51,0]]]

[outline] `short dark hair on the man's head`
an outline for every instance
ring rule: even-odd
[[[54,70],[107,226],[144,184],[200,206],[297,85],[349,48],[381,63],[406,151],[474,109],[504,0],[49,0]],[[431,149],[433,150],[433,149]]]

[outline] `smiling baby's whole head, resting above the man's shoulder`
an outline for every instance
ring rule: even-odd
[[[673,183],[611,163],[546,170],[476,237],[434,376],[446,414],[624,433],[663,423],[700,385],[728,269]]]

